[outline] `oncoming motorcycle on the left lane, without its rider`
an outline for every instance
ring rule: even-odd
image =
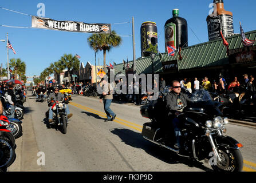
[[[51,99],[50,103],[54,102],[52,106],[53,110],[53,122],[50,123],[50,125],[58,125],[61,128],[62,133],[66,134],[66,128],[68,126],[68,117],[66,114],[66,108],[65,104],[62,104],[62,102],[54,101]],[[46,118],[49,118],[49,110],[45,113]]]

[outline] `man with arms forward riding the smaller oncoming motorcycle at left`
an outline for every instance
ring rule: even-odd
[[[58,102],[62,102],[64,100],[64,96],[62,93],[59,92],[58,90],[58,87],[54,87],[54,93],[51,93],[49,95],[49,99],[48,99],[48,103],[51,102],[51,100],[54,100],[54,101],[58,101]],[[63,104],[65,105],[65,104]],[[49,108],[49,122],[53,122],[53,110],[52,110],[52,106],[53,106],[53,103],[50,103],[50,108]],[[72,113],[69,112],[69,108],[68,108],[68,105],[65,105],[65,108],[66,108],[66,114],[68,115],[68,119],[71,118],[73,116]],[[60,125],[60,124],[58,124]]]

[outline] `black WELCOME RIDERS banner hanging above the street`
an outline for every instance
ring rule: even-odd
[[[32,16],[32,27],[80,33],[111,33],[111,25],[106,23],[56,21],[54,19],[36,16]]]

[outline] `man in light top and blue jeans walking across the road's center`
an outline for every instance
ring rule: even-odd
[[[108,78],[101,79],[101,82],[103,84],[103,94],[101,94],[100,96],[100,102],[103,102],[104,110],[107,114],[107,119],[105,121],[113,121],[116,118],[116,114],[110,109],[110,105],[113,100],[113,87],[107,80]]]

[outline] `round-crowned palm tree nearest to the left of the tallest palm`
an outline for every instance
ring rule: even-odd
[[[80,61],[76,56],[72,54],[64,54],[59,60],[60,64],[68,69],[68,77],[70,82],[70,70],[78,70]]]

